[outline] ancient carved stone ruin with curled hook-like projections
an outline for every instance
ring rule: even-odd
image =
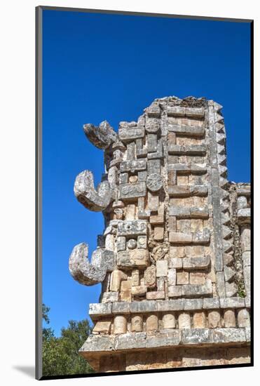
[[[221,105],[160,98],[137,122],[84,126],[105,173],[80,173],[74,192],[102,211],[88,261],[71,275],[102,283],[92,335],[79,353],[98,372],[250,362],[250,186],[227,180]]]

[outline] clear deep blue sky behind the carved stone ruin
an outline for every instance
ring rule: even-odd
[[[74,197],[84,169],[100,182],[103,154],[85,123],[136,120],[153,99],[204,96],[224,106],[228,178],[249,181],[249,23],[43,11],[43,301],[55,333],[88,315],[100,285],[70,277],[69,254],[96,247],[101,213]]]

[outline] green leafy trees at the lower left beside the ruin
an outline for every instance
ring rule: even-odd
[[[50,308],[43,307],[43,320],[48,324]],[[69,326],[62,328],[60,338],[55,337],[52,328],[43,328],[43,375],[93,373],[90,364],[78,354],[90,332],[87,319],[70,320]]]

